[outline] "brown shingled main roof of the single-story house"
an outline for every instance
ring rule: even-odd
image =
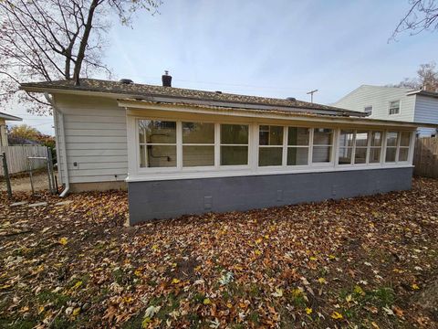
[[[276,99],[258,96],[238,95],[218,91],[188,90],[174,87],[162,87],[139,83],[122,83],[111,80],[81,79],[79,85],[72,80],[56,80],[44,82],[22,83],[21,89],[27,91],[51,90],[78,90],[97,93],[111,93],[117,95],[129,95],[130,98],[151,100],[151,98],[168,98],[187,103],[195,101],[211,101],[215,105],[226,104],[226,107],[236,108],[266,108],[266,110],[287,110],[290,111],[321,111],[331,115],[342,116],[366,116],[364,112],[339,109],[333,106],[297,101],[288,99]],[[154,100],[156,101],[156,100]]]

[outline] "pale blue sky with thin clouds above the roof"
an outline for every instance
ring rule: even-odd
[[[173,87],[301,101],[318,89],[314,101],[329,104],[438,61],[438,33],[389,41],[408,9],[408,0],[163,0],[132,28],[114,22],[104,62],[115,80],[160,85],[168,69]],[[53,133],[51,118],[10,112]]]

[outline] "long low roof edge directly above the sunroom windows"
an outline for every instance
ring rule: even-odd
[[[287,120],[294,122],[321,122],[331,123],[339,125],[351,125],[356,127],[384,127],[384,128],[396,128],[414,130],[418,127],[438,128],[438,124],[433,123],[417,123],[417,122],[399,122],[389,120],[376,120],[368,118],[355,118],[344,117],[334,115],[322,115],[308,112],[298,111],[282,111],[281,109],[263,111],[263,110],[248,110],[248,109],[236,109],[236,108],[224,108],[216,106],[186,104],[186,103],[165,103],[158,101],[139,101],[131,99],[118,100],[120,107],[126,110],[160,110],[160,111],[173,111],[173,112],[190,112],[198,114],[215,114],[226,115],[235,117],[246,118],[263,118],[263,119],[276,119]]]

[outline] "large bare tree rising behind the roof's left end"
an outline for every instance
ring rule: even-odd
[[[111,17],[131,25],[139,10],[156,13],[161,0],[0,0],[0,101],[32,101],[29,111],[47,113],[37,95],[19,82],[73,80],[97,73],[110,76],[102,62]],[[29,106],[29,105],[28,105]]]

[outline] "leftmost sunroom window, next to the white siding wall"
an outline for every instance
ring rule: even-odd
[[[176,122],[139,121],[140,166],[176,166]]]

